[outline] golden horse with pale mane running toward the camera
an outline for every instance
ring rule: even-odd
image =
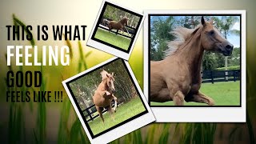
[[[99,116],[102,118],[104,122],[104,118],[102,116],[102,111],[106,108],[113,118],[113,110],[114,112],[117,109],[117,98],[114,96],[114,74],[108,74],[105,70],[102,70],[102,82],[98,85],[97,90],[95,90],[95,94],[93,96],[95,107],[98,111]],[[112,110],[111,102],[114,99],[114,109]]]

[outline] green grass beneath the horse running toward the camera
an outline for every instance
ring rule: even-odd
[[[117,112],[114,113],[114,121],[110,117],[110,113],[106,112],[103,114],[103,118],[105,120],[104,124],[102,122],[102,118],[98,117],[94,119],[94,121],[89,122],[89,126],[95,135],[126,121],[126,119],[132,118],[137,114],[141,114],[145,110],[146,109],[144,108],[141,99],[137,97],[118,107]]]

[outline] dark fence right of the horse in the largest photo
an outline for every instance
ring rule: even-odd
[[[241,70],[205,70],[202,72],[202,83],[237,81],[241,78]]]

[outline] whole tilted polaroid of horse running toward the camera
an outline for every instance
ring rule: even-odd
[[[110,142],[154,122],[128,62],[121,58],[62,83],[91,142]]]

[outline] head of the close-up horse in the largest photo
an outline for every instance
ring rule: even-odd
[[[222,34],[214,27],[213,19],[206,22],[202,17],[201,42],[205,50],[211,50],[222,53],[225,56],[232,54],[233,45],[222,37]]]

